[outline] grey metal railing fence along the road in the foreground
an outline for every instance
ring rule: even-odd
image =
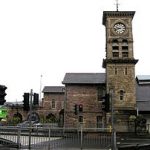
[[[0,144],[18,149],[67,150],[109,149],[112,134],[95,128],[0,127]]]

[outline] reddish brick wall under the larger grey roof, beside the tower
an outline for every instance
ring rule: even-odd
[[[74,114],[75,104],[83,105],[83,113]],[[83,116],[84,127],[97,127],[97,117],[102,116],[98,85],[66,86],[65,127],[78,127],[79,116]]]

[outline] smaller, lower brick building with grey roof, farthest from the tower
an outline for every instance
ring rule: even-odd
[[[52,122],[61,120],[61,123],[63,122],[61,112],[64,108],[64,88],[64,86],[45,86],[43,88],[42,109],[39,109],[38,112],[40,115],[43,114],[46,120],[49,119]]]

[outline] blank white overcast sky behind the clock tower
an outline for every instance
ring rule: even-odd
[[[105,72],[103,11],[116,11],[115,0],[1,0],[0,84],[6,101],[23,100],[44,86],[62,86],[65,73]],[[150,75],[149,0],[119,0],[133,19],[136,75]],[[41,89],[41,90],[40,90]]]

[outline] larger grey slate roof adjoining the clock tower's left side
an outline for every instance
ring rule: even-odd
[[[104,84],[105,73],[66,73],[63,84]]]

